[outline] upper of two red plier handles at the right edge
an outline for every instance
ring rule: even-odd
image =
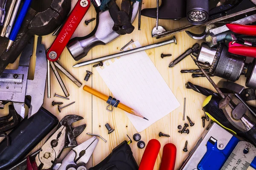
[[[256,35],[256,26],[247,26],[241,24],[226,24],[226,26],[237,34]]]

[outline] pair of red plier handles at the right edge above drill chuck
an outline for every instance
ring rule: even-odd
[[[236,34],[256,36],[256,26],[247,26],[241,24],[226,24],[226,26]],[[256,58],[256,47],[230,42],[228,51],[232,54]]]

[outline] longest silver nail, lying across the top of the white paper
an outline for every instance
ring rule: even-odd
[[[127,55],[127,54],[133,54],[133,53],[137,53],[137,52],[140,52],[140,51],[145,51],[145,50],[148,50],[148,49],[151,49],[151,48],[157,48],[157,47],[160,47],[160,46],[163,46],[163,45],[168,45],[168,44],[171,44],[171,43],[177,44],[177,41],[176,41],[175,37],[173,37],[172,40],[157,42],[155,44],[146,45],[146,46],[139,47],[139,48],[134,48],[134,49],[131,49],[131,50],[128,50],[128,51],[122,51],[120,53],[111,54],[111,55],[104,56],[104,57],[99,57],[99,58],[96,58],[96,59],[91,59],[91,60],[88,60],[88,61],[85,61],[85,62],[80,62],[80,63],[74,65],[73,67],[81,67],[81,66],[84,66],[84,65],[94,64],[94,63],[97,63],[97,62],[105,61],[105,60],[116,58],[116,57],[122,57],[122,56]]]

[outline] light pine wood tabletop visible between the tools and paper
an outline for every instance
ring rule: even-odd
[[[76,4],[77,0],[72,0],[72,8]],[[120,5],[121,0],[117,0],[117,2]],[[153,8],[156,7],[155,0],[144,0],[143,2],[143,8]],[[76,30],[73,37],[82,37],[87,34],[89,34],[93,28],[95,27],[95,21],[90,23],[88,26],[84,24],[85,20],[89,20],[92,17],[96,17],[96,12],[93,8],[93,6],[90,7],[89,11],[85,15],[84,19],[79,25],[79,28]],[[136,18],[134,22],[135,30],[132,34],[127,34],[122,37],[119,37],[115,41],[111,42],[108,45],[100,45],[95,48],[93,48],[86,57],[81,59],[81,61],[86,61],[89,59],[105,56],[108,54],[114,54],[118,53],[120,48],[124,46],[126,43],[128,43],[131,39],[133,40],[139,40],[141,45],[149,45],[152,43],[160,42],[163,40],[171,39],[172,36],[165,37],[159,40],[156,40],[155,38],[151,37],[151,30],[155,26],[155,19],[143,17],[142,16],[142,23],[141,23],[141,31],[138,31],[138,17]],[[159,24],[161,26],[166,27],[168,30],[173,28],[178,28],[180,26],[185,26],[188,22],[186,19],[180,20],[180,21],[172,21],[172,20],[160,20]],[[195,33],[201,33],[203,31],[202,28],[195,28],[191,31]],[[190,151],[194,144],[197,142],[198,138],[201,136],[201,134],[204,131],[204,128],[202,127],[202,120],[201,117],[204,116],[204,112],[201,110],[202,103],[205,99],[205,96],[198,94],[197,92],[193,90],[189,90],[185,88],[185,83],[190,81],[193,84],[201,85],[205,88],[212,89],[212,86],[207,81],[206,78],[195,78],[193,79],[191,77],[191,74],[181,74],[181,69],[197,69],[194,62],[190,57],[186,57],[181,61],[179,64],[177,64],[174,68],[169,68],[169,63],[178,57],[180,54],[182,54],[186,49],[191,48],[191,46],[198,42],[201,44],[201,41],[193,40],[189,36],[186,35],[185,32],[181,32],[178,34],[175,34],[175,37],[177,38],[177,45],[171,44],[166,45],[159,48],[154,48],[146,51],[148,54],[148,57],[152,60],[154,65],[156,66],[157,70],[162,75],[163,79],[166,81],[166,83],[169,85],[170,89],[176,96],[177,100],[180,102],[181,106],[177,108],[172,113],[165,116],[163,119],[160,119],[150,127],[148,127],[146,130],[140,133],[142,140],[147,144],[149,140],[151,139],[157,139],[161,143],[161,149],[160,153],[158,154],[157,161],[155,163],[154,170],[159,170],[160,163],[162,159],[163,154],[163,146],[167,143],[173,143],[177,147],[177,157],[176,157],[176,164],[175,169],[180,167],[183,160],[188,156],[189,152],[183,152],[183,147],[188,140],[188,150]],[[51,35],[47,35],[43,37],[42,43],[45,45],[45,48],[49,48],[49,46],[52,44],[55,37],[52,37]],[[36,37],[37,40],[37,37]],[[166,57],[162,59],[160,57],[160,54],[172,54],[172,57]],[[87,65],[81,68],[73,68],[72,66],[75,65],[77,62],[71,57],[70,53],[67,51],[67,49],[64,50],[64,52],[61,55],[61,59],[59,61],[61,65],[63,65],[65,68],[67,68],[70,73],[72,73],[75,77],[77,77],[83,85],[88,85],[103,94],[111,95],[111,91],[109,91],[107,85],[105,85],[105,82],[102,80],[102,78],[99,76],[98,72],[95,68],[92,68],[92,65]],[[17,68],[18,60],[8,66],[8,69]],[[30,71],[29,71],[29,78],[33,78],[33,73],[35,70],[35,52],[32,56],[32,60],[30,63]],[[84,76],[86,74],[86,70],[92,71],[93,76],[90,77],[88,82],[84,81]],[[134,126],[131,124],[128,117],[125,115],[124,111],[120,109],[115,109],[113,113],[109,113],[106,111],[106,102],[102,101],[101,99],[92,96],[91,94],[85,92],[81,88],[78,88],[76,85],[74,85],[70,80],[64,76],[64,74],[60,73],[61,77],[70,92],[70,100],[60,99],[53,97],[53,95],[60,94],[63,95],[63,92],[60,88],[60,85],[58,84],[57,79],[55,78],[53,72],[51,71],[51,87],[52,87],[52,98],[47,98],[47,88],[45,91],[45,98],[44,98],[44,105],[43,107],[46,108],[48,111],[50,111],[52,114],[58,117],[59,120],[61,120],[64,116],[69,114],[76,114],[83,116],[84,119],[75,123],[74,125],[81,125],[86,123],[87,127],[84,130],[83,133],[79,137],[77,137],[77,142],[80,144],[84,142],[85,140],[89,139],[91,136],[87,135],[86,133],[96,133],[101,135],[104,139],[106,139],[108,142],[105,143],[101,139],[99,139],[99,143],[96,147],[96,149],[93,152],[93,156],[90,159],[90,161],[87,163],[87,167],[92,167],[98,164],[100,161],[102,161],[106,156],[108,156],[112,149],[116,147],[118,144],[123,142],[124,140],[128,140],[128,137],[126,134],[128,134],[130,137],[134,135],[134,133],[137,133]],[[217,83],[219,80],[221,80],[218,77],[213,77],[213,80]],[[244,85],[245,78],[241,76],[238,83],[241,85]],[[161,87],[159,87],[161,88]],[[190,133],[189,134],[180,134],[178,133],[177,126],[178,125],[184,125],[184,123],[187,123],[188,121],[183,121],[183,99],[186,97],[186,115],[189,116],[193,122],[195,122],[195,126],[189,127]],[[69,104],[70,102],[75,101],[76,103],[69,106],[68,108],[65,108],[61,111],[61,113],[58,112],[57,106],[52,106],[52,101],[55,102],[64,102],[64,105]],[[7,108],[7,107],[6,107]],[[113,133],[108,135],[108,131],[105,128],[105,124],[109,123],[111,127],[115,129]],[[208,125],[209,122],[206,122]],[[206,125],[206,126],[207,126]],[[159,137],[158,133],[163,132],[166,134],[169,134],[170,137]],[[49,136],[49,135],[48,135]],[[47,137],[48,137],[47,136]],[[37,150],[44,144],[45,140],[44,138],[40,144],[33,150]],[[143,156],[144,149],[139,149],[137,147],[137,142],[133,142],[130,144],[134,158],[136,159],[137,163],[140,164],[140,160]],[[70,149],[65,149],[64,152],[61,155],[61,158],[63,158]]]

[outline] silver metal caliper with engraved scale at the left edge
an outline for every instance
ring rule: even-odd
[[[44,91],[47,76],[47,59],[42,37],[38,37],[36,47],[35,76],[28,79],[30,57],[33,54],[33,37],[21,53],[17,70],[5,69],[0,76],[1,103],[13,102],[15,110],[21,117],[25,117],[25,104],[29,107],[28,117],[38,112],[44,102]],[[26,100],[28,97],[30,100]],[[29,101],[30,103],[28,103]],[[0,108],[4,108],[1,104]]]

